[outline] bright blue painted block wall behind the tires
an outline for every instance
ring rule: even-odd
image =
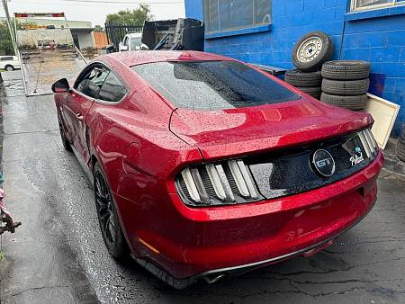
[[[249,63],[292,68],[294,43],[309,31],[325,31],[335,59],[370,61],[386,76],[383,98],[401,104],[393,134],[405,123],[405,6],[347,13],[348,0],[273,0],[269,31],[205,40],[205,50]],[[202,20],[202,0],[185,0],[187,17]]]

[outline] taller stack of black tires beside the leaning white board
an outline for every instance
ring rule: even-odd
[[[365,61],[329,61],[322,66],[320,100],[350,110],[363,110],[370,86],[370,64]]]

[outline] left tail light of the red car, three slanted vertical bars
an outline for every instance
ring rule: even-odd
[[[260,198],[243,160],[185,168],[176,179],[185,204],[211,206],[257,201]]]

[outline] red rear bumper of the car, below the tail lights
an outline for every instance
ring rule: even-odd
[[[216,281],[315,254],[373,208],[382,166],[379,152],[371,165],[337,183],[240,206],[192,209],[171,194],[178,219],[167,228],[170,232],[139,235],[153,247],[145,246],[137,260],[162,280],[183,288],[201,278]]]

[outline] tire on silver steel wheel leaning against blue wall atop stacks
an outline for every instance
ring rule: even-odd
[[[323,31],[312,31],[302,37],[293,48],[293,65],[302,71],[316,71],[332,58],[333,41]]]

